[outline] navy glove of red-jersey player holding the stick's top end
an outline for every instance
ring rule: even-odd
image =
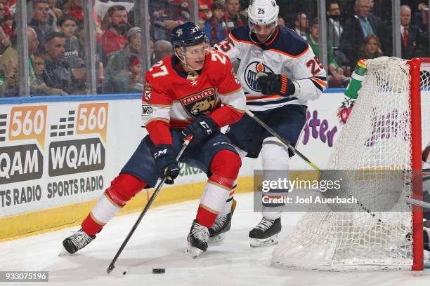
[[[190,146],[197,146],[207,137],[214,135],[219,131],[218,125],[216,125],[214,119],[209,116],[200,115],[197,116],[194,121],[188,124],[184,130],[182,130],[182,135],[188,137],[193,135],[191,139]]]

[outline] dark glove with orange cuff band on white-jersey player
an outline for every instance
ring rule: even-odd
[[[257,82],[263,95],[281,95],[288,97],[296,91],[294,83],[285,74],[257,73]]]

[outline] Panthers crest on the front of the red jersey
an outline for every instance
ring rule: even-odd
[[[190,116],[209,114],[214,110],[216,93],[214,88],[207,88],[200,93],[188,95],[181,99],[181,104]]]

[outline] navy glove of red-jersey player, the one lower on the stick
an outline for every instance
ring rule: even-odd
[[[160,178],[166,177],[166,184],[173,184],[174,179],[179,175],[178,152],[169,144],[159,144],[152,149],[155,165]]]

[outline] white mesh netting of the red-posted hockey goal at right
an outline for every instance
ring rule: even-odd
[[[334,144],[327,169],[367,170],[365,175],[360,174],[366,180],[353,172],[344,174],[344,183],[358,198],[361,206],[356,207],[368,212],[331,212],[328,207],[321,212],[320,206],[315,208],[318,212],[311,209],[292,236],[275,249],[273,264],[333,271],[410,269],[412,265],[408,235],[412,231],[412,213],[403,200],[398,200],[410,195],[410,182],[368,179],[386,175],[387,170],[396,170],[407,178],[410,173],[409,66],[394,57],[368,60],[366,64],[366,79]],[[430,142],[430,74],[425,69],[428,68],[422,71],[423,147]],[[382,211],[385,209],[389,211]]]

